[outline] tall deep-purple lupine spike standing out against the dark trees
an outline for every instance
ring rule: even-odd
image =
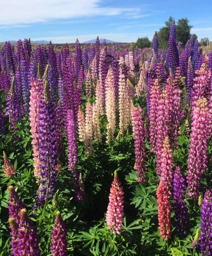
[[[168,51],[166,56],[166,64],[168,70],[171,69],[174,74],[175,68],[179,65],[179,54],[175,38],[175,22],[170,27],[170,37],[168,39]]]

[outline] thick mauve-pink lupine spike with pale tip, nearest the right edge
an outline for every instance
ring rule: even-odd
[[[207,169],[208,137],[210,135],[210,113],[206,99],[199,99],[193,106],[190,150],[188,150],[188,197],[198,200],[201,177]]]

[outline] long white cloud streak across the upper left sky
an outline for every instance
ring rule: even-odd
[[[8,0],[0,1],[0,24],[31,24],[53,19],[95,15],[140,15],[139,8],[102,7],[100,0]]]

